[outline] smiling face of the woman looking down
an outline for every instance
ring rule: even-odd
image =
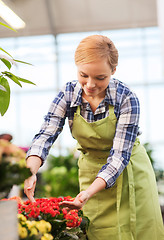
[[[78,81],[83,89],[84,96],[105,97],[105,91],[109,84],[112,72],[111,67],[105,60],[92,63],[79,64]]]

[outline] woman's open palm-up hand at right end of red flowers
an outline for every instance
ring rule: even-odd
[[[88,201],[89,194],[86,191],[80,192],[73,201],[63,201],[60,206],[71,209],[81,209],[84,204]]]

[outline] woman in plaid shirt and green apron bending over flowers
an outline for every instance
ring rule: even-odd
[[[112,78],[118,63],[113,42],[101,35],[83,39],[75,52],[78,81],[54,99],[27,154],[33,176],[25,193],[34,201],[36,173],[68,117],[80,151],[80,193],[68,208],[90,219],[89,240],[161,240],[163,223],[150,160],[140,145],[139,102]]]

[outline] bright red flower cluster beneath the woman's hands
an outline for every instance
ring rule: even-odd
[[[71,201],[71,197],[63,198],[48,198],[36,199],[36,202],[31,203],[29,200],[18,203],[18,212],[25,215],[27,218],[35,220],[44,219],[51,221],[53,219],[65,219],[67,227],[78,227],[82,218],[78,216],[78,210],[67,211],[61,208],[61,201]]]

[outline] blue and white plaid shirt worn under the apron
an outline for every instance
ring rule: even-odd
[[[74,113],[81,105],[81,115],[87,122],[95,122],[109,115],[109,104],[114,106],[117,127],[113,147],[107,163],[100,169],[98,177],[103,178],[107,188],[113,186],[117,177],[127,166],[131,151],[139,133],[139,101],[136,95],[121,81],[112,78],[106,89],[104,100],[93,113],[87,101],[82,99],[82,88],[78,81],[68,82],[51,103],[49,112],[38,134],[35,135],[27,153],[39,156],[44,162],[49,149],[61,133],[68,118],[72,130]]]

